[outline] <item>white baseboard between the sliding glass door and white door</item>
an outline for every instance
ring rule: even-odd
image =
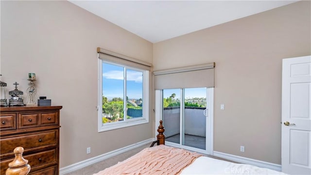
[[[279,164],[275,164],[275,163],[265,162],[265,161],[247,158],[247,157],[230,155],[230,154],[221,153],[221,152],[217,152],[217,151],[213,152],[213,156],[222,157],[222,158],[232,160],[232,161],[236,161],[239,163],[255,165],[258,167],[262,167],[262,168],[269,168],[271,170],[282,171],[282,166]]]

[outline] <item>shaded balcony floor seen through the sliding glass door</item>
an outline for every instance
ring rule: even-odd
[[[165,138],[166,141],[179,143],[179,134]],[[185,145],[205,150],[206,138],[185,134]]]

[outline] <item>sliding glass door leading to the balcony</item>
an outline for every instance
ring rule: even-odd
[[[211,88],[162,90],[166,144],[209,154]],[[208,149],[208,151],[206,151]]]

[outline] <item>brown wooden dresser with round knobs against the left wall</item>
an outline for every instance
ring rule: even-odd
[[[0,107],[0,175],[24,148],[30,175],[59,174],[59,110],[62,106]]]

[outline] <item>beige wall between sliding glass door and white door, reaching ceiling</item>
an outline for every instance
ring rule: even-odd
[[[154,70],[216,62],[214,151],[281,164],[282,58],[311,54],[310,6],[300,1],[154,44]]]

